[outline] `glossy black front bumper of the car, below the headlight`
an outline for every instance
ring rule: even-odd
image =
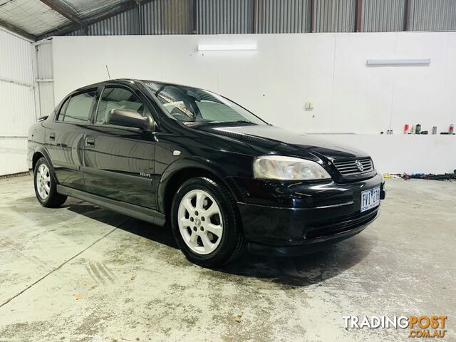
[[[284,203],[286,199],[281,195],[247,197],[249,202],[238,202],[238,208],[249,251],[267,255],[309,254],[353,237],[380,213],[380,206],[363,213],[360,211],[361,191],[378,186],[383,199],[384,181],[380,176],[346,184],[332,181],[276,184],[274,189],[276,192],[281,189],[278,191],[281,195],[290,187],[294,189],[292,194],[286,195],[291,199],[288,203]],[[266,185],[263,190],[257,189],[257,193],[265,189]],[[251,195],[252,191],[248,194]],[[269,203],[259,204],[261,201]]]

